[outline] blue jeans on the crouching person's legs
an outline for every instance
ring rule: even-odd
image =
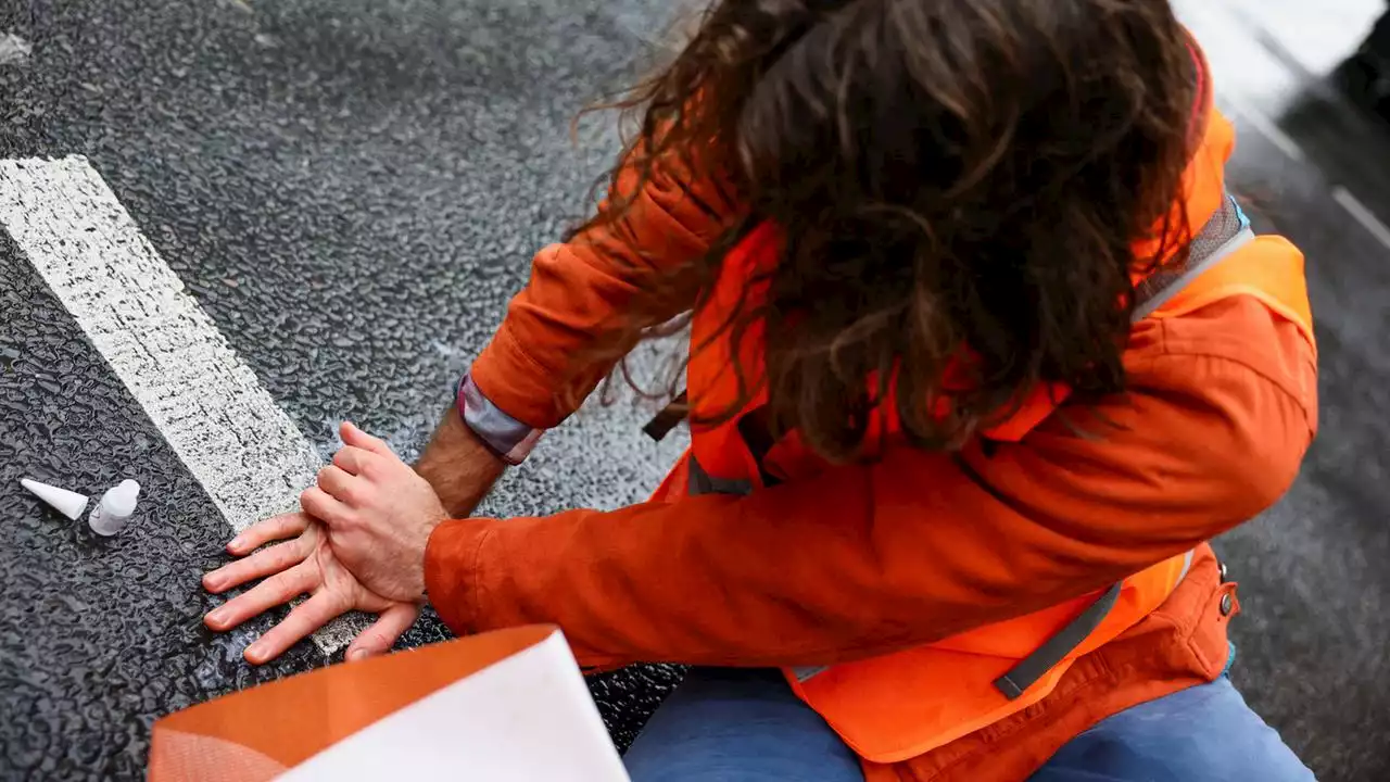
[[[863,782],[855,754],[776,671],[691,671],[624,763],[632,782]],[[1247,779],[1314,775],[1222,676],[1101,721],[1029,782]]]

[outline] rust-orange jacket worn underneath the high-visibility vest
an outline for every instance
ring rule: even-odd
[[[620,230],[646,259],[681,263],[721,228],[696,206],[710,202],[653,182]],[[537,257],[473,369],[512,416],[545,427],[570,412],[553,392],[569,356],[632,292],[613,250],[587,237]],[[890,444],[876,463],[748,497],[448,522],[427,551],[431,600],[459,633],[556,622],[585,665],[830,665],[1056,605],[1195,547],[1172,597],[1037,708],[866,767],[1022,779],[1095,721],[1218,675],[1237,607],[1202,543],[1277,500],[1315,431],[1315,351],[1252,296],[1138,323],[1125,363],[1130,391],[1095,406],[1119,424],[1101,438],[1052,417],[991,456]]]

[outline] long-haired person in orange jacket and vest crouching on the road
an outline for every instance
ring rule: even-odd
[[[247,660],[353,608],[357,660],[428,598],[460,635],[553,622],[589,671],[692,665],[638,781],[1311,778],[1227,679],[1207,543],[1314,437],[1302,256],[1225,191],[1165,0],[723,0],[623,104],[607,198],[418,463],[345,424],[204,577],[270,576],[211,628],[311,593]],[[684,328],[651,501],[468,518]]]

